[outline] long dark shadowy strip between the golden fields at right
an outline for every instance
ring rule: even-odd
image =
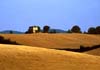
[[[78,49],[62,48],[62,49],[58,49],[58,50],[66,50],[66,51],[73,51],[73,52],[86,52],[86,51],[94,50],[97,48],[100,48],[100,45],[94,45],[92,47],[80,46],[80,48],[78,48]]]

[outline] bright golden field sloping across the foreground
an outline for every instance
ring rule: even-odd
[[[39,47],[0,44],[0,70],[100,70],[100,57]]]

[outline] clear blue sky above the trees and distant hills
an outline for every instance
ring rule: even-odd
[[[0,31],[34,25],[86,31],[100,25],[100,0],[0,0]]]

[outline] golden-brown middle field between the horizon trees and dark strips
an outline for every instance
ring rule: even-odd
[[[100,35],[88,34],[0,34],[19,44],[45,48],[79,48],[100,44]]]

